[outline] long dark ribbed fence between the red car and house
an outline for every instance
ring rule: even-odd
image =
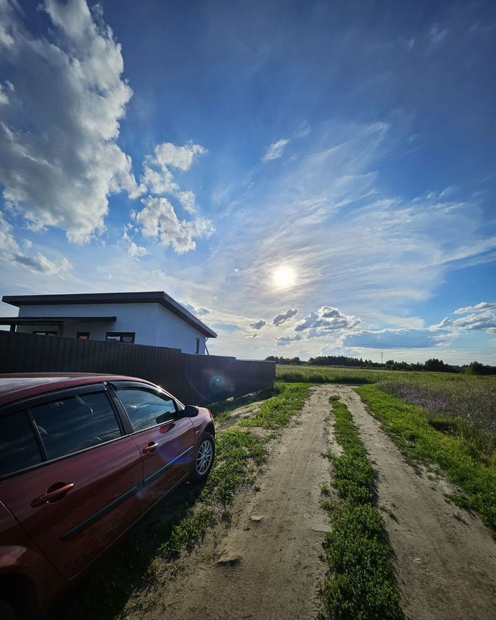
[[[0,373],[39,372],[130,375],[161,385],[185,404],[207,404],[271,386],[276,364],[144,344],[0,331]]]

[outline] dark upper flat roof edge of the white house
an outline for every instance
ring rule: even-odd
[[[204,322],[196,318],[179,302],[164,291],[138,293],[74,293],[70,295],[4,295],[2,301],[12,306],[56,305],[56,304],[161,304],[180,319],[200,331],[208,338],[217,334]],[[4,323],[5,324],[5,323]]]

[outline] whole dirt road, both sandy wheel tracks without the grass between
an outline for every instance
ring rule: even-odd
[[[302,413],[273,447],[258,488],[238,495],[231,527],[220,524],[209,532],[205,543],[181,560],[175,578],[138,595],[139,604],[127,618],[316,617],[325,570],[319,556],[329,528],[320,487],[331,482],[322,453],[340,451],[329,435],[334,394],[349,407],[378,469],[379,505],[407,617],[496,618],[496,543],[486,527],[445,499],[444,493],[453,490],[446,480],[418,475],[404,462],[357,393],[331,385],[312,389]],[[226,426],[250,412],[240,410]]]

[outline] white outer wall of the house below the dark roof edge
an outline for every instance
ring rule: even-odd
[[[157,303],[141,304],[46,304],[19,307],[19,318],[30,316],[116,316],[115,322],[80,322],[63,326],[65,338],[78,331],[90,333],[90,340],[105,340],[107,332],[134,332],[135,344],[181,349],[184,353],[205,354],[205,335]],[[19,325],[17,331],[57,331],[57,326]]]

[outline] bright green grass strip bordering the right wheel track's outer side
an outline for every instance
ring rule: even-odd
[[[406,458],[442,467],[462,489],[462,495],[453,496],[455,502],[477,510],[484,523],[496,533],[494,455],[490,457],[480,451],[470,434],[446,428],[446,419],[440,424],[436,420],[433,423],[420,406],[408,404],[376,386],[363,386],[357,392]],[[459,420],[451,422],[455,426],[461,424]]]

